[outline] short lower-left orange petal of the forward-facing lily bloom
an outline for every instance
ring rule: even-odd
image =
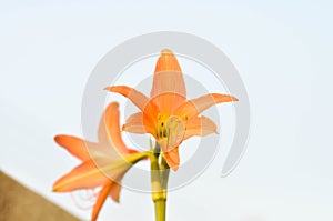
[[[122,130],[131,133],[153,133],[153,128],[143,123],[143,113],[133,113],[127,119],[127,123],[122,127]]]

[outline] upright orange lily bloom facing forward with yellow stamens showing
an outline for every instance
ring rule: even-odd
[[[168,49],[162,50],[158,59],[150,98],[127,86],[105,89],[129,98],[141,110],[129,117],[123,131],[152,134],[173,170],[179,168],[179,145],[183,140],[216,133],[215,123],[200,115],[201,112],[216,103],[238,101],[220,93],[188,100],[181,67]]]

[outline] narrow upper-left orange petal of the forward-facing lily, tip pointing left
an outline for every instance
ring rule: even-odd
[[[145,97],[140,91],[137,91],[133,88],[127,87],[127,86],[113,86],[113,87],[107,87],[105,90],[120,93],[128,99],[130,99],[141,111],[144,110],[145,104],[149,101],[149,98]]]

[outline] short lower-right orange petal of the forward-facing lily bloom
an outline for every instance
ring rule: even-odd
[[[206,117],[193,117],[186,123],[184,140],[193,135],[216,133],[216,124]]]

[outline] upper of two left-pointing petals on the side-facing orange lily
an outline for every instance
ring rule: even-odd
[[[88,148],[98,150],[97,143],[88,142],[73,135],[56,135],[54,141],[82,161],[90,159]]]

